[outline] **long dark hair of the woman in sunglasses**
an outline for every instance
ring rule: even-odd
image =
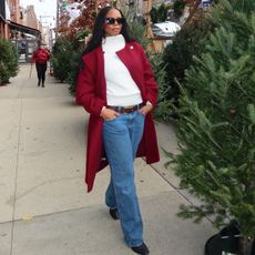
[[[116,9],[118,11],[120,11],[121,17],[124,18],[122,11],[115,7],[104,7],[103,9],[100,10],[99,14],[96,16],[95,22],[94,22],[94,28],[93,28],[93,32],[92,32],[92,37],[90,39],[90,41],[88,42],[88,45],[83,52],[83,54],[89,53],[90,51],[94,50],[95,48],[98,48],[99,45],[101,45],[103,38],[105,37],[105,32],[104,32],[104,20],[105,17],[108,14],[108,12],[112,9]],[[120,32],[126,42],[129,41],[134,41],[134,39],[132,39],[129,35],[129,26],[126,22],[124,22],[122,24],[122,29]]]

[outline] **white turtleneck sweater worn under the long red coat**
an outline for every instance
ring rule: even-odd
[[[116,55],[125,47],[122,34],[106,37],[102,42],[108,105],[129,106],[142,103],[141,92],[128,68]]]

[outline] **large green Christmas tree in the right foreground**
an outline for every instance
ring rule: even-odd
[[[180,216],[238,224],[239,254],[255,236],[255,1],[222,0],[204,53],[186,71],[178,109],[181,187],[200,198]],[[185,89],[184,89],[185,88]]]

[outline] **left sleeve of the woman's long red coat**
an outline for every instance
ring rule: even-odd
[[[100,115],[105,102],[99,96],[100,92],[96,90],[95,60],[85,55],[82,58],[82,65],[76,79],[75,102],[89,113]]]

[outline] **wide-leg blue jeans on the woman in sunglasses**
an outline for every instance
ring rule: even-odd
[[[134,184],[133,161],[144,129],[144,115],[134,111],[104,121],[103,141],[111,169],[105,203],[118,208],[124,239],[129,246],[143,243],[143,222]]]

